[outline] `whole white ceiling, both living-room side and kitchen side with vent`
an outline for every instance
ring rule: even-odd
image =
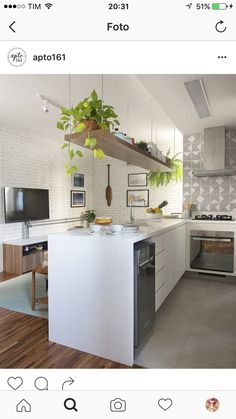
[[[236,127],[236,75],[137,77],[183,134],[202,132],[211,126]],[[206,120],[199,119],[183,85],[184,81],[198,77],[203,79],[213,115]],[[88,84],[101,94],[100,75],[72,76],[72,103],[88,94]],[[0,92],[0,122],[42,137],[62,138],[56,129],[60,111],[50,107],[50,114],[45,114],[36,95],[41,93],[68,106],[67,75],[0,75]]]

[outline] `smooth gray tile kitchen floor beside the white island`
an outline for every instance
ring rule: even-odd
[[[186,274],[136,359],[146,368],[236,368],[236,282]]]

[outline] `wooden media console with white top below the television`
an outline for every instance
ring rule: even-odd
[[[38,249],[42,247],[42,249]],[[3,243],[3,270],[22,275],[42,263],[48,249],[47,236],[11,240]]]

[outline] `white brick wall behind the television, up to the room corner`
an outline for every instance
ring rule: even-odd
[[[93,158],[83,150],[80,172],[85,174],[86,205],[93,207]],[[49,189],[50,218],[79,217],[86,208],[70,207],[71,178],[65,173],[66,153],[60,143],[0,125],[0,272],[2,242],[22,237],[22,223],[4,223],[3,187]],[[78,222],[76,224],[79,224]],[[72,224],[32,227],[30,236],[63,231]]]

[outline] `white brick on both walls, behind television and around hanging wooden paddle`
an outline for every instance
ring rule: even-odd
[[[156,207],[163,200],[168,201],[164,213],[182,212],[182,183],[170,183],[167,187],[128,187],[129,173],[144,173],[145,170],[106,157],[93,158],[90,151],[83,149],[84,158],[79,160],[79,172],[85,174],[86,208],[96,210],[97,215],[111,215],[113,222],[129,220],[126,206],[128,189],[149,189],[149,206]],[[50,193],[50,218],[79,217],[86,208],[70,207],[71,178],[65,173],[66,153],[60,143],[52,139],[37,137],[28,132],[12,129],[0,124],[0,271],[2,270],[2,242],[22,237],[22,224],[4,222],[3,187],[21,186],[46,188]],[[107,206],[105,189],[107,186],[107,164],[111,165],[111,187],[113,199]],[[134,217],[145,216],[144,208],[135,208]],[[78,224],[78,223],[76,223]],[[52,226],[34,226],[30,236],[56,231],[64,231],[73,223]]]

